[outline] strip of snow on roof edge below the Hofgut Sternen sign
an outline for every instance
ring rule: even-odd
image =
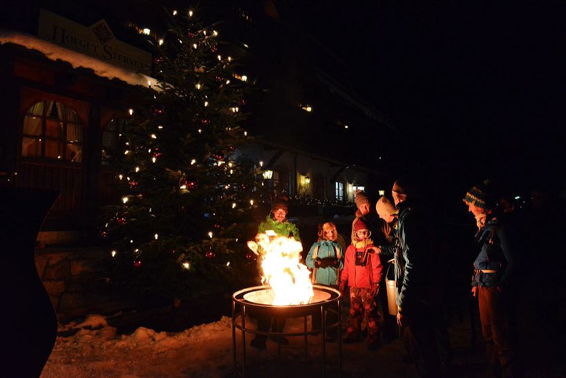
[[[157,89],[156,80],[153,77],[136,73],[132,70],[109,64],[101,59],[69,50],[67,48],[53,44],[50,41],[35,37],[22,32],[12,32],[0,30],[0,44],[15,44],[28,48],[29,50],[37,50],[43,53],[48,59],[57,62],[62,60],[68,62],[73,68],[89,68],[94,71],[95,75],[107,77],[108,79],[119,79],[133,86],[148,86],[151,84]]]

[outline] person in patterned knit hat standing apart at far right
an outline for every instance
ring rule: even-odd
[[[475,258],[472,294],[478,297],[480,321],[487,353],[487,373],[494,375],[498,363],[503,377],[513,377],[513,344],[509,327],[509,297],[512,290],[516,238],[511,225],[496,214],[491,183],[485,180],[466,192],[468,206],[478,226],[475,240],[480,252]]]

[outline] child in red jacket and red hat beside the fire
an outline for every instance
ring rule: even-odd
[[[379,317],[375,307],[375,296],[379,292],[382,265],[379,261],[379,247],[374,247],[364,218],[354,223],[355,240],[346,249],[344,269],[340,278],[340,291],[350,287],[350,314],[344,343],[361,341],[361,321],[366,314],[368,322],[369,350],[379,347]]]

